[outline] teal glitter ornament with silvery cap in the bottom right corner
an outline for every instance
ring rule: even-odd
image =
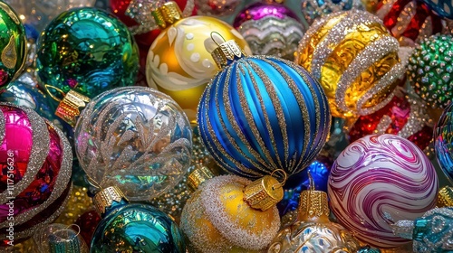
[[[414,252],[453,251],[453,208],[435,208],[416,220],[399,220],[393,233],[413,239]]]

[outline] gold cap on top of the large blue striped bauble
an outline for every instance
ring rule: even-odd
[[[213,37],[214,34],[218,33],[211,33],[211,39],[216,42]],[[244,50],[234,40],[227,42],[225,42],[224,40],[223,43],[219,44],[218,47],[213,52],[211,52],[211,56],[214,61],[216,61],[217,67],[219,69],[222,69],[223,67],[226,67],[226,65],[228,65],[231,61],[246,56],[246,52],[244,52]]]

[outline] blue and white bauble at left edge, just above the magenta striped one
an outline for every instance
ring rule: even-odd
[[[24,73],[8,85],[5,91],[0,94],[0,102],[7,102],[24,108],[32,108],[41,117],[45,117],[52,122],[54,126],[63,129],[63,125],[67,125],[53,114],[55,105],[53,104],[52,98],[49,98],[48,95],[45,95],[36,86],[37,83],[33,80],[33,77],[28,73]]]

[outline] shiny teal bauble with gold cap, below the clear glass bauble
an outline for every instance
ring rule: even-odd
[[[146,204],[130,204],[116,187],[97,193],[93,203],[102,220],[90,252],[186,252],[182,233],[164,212]]]

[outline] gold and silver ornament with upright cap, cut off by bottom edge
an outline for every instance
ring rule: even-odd
[[[357,252],[360,242],[340,224],[329,220],[327,193],[310,189],[301,192],[297,219],[278,232],[268,253]]]

